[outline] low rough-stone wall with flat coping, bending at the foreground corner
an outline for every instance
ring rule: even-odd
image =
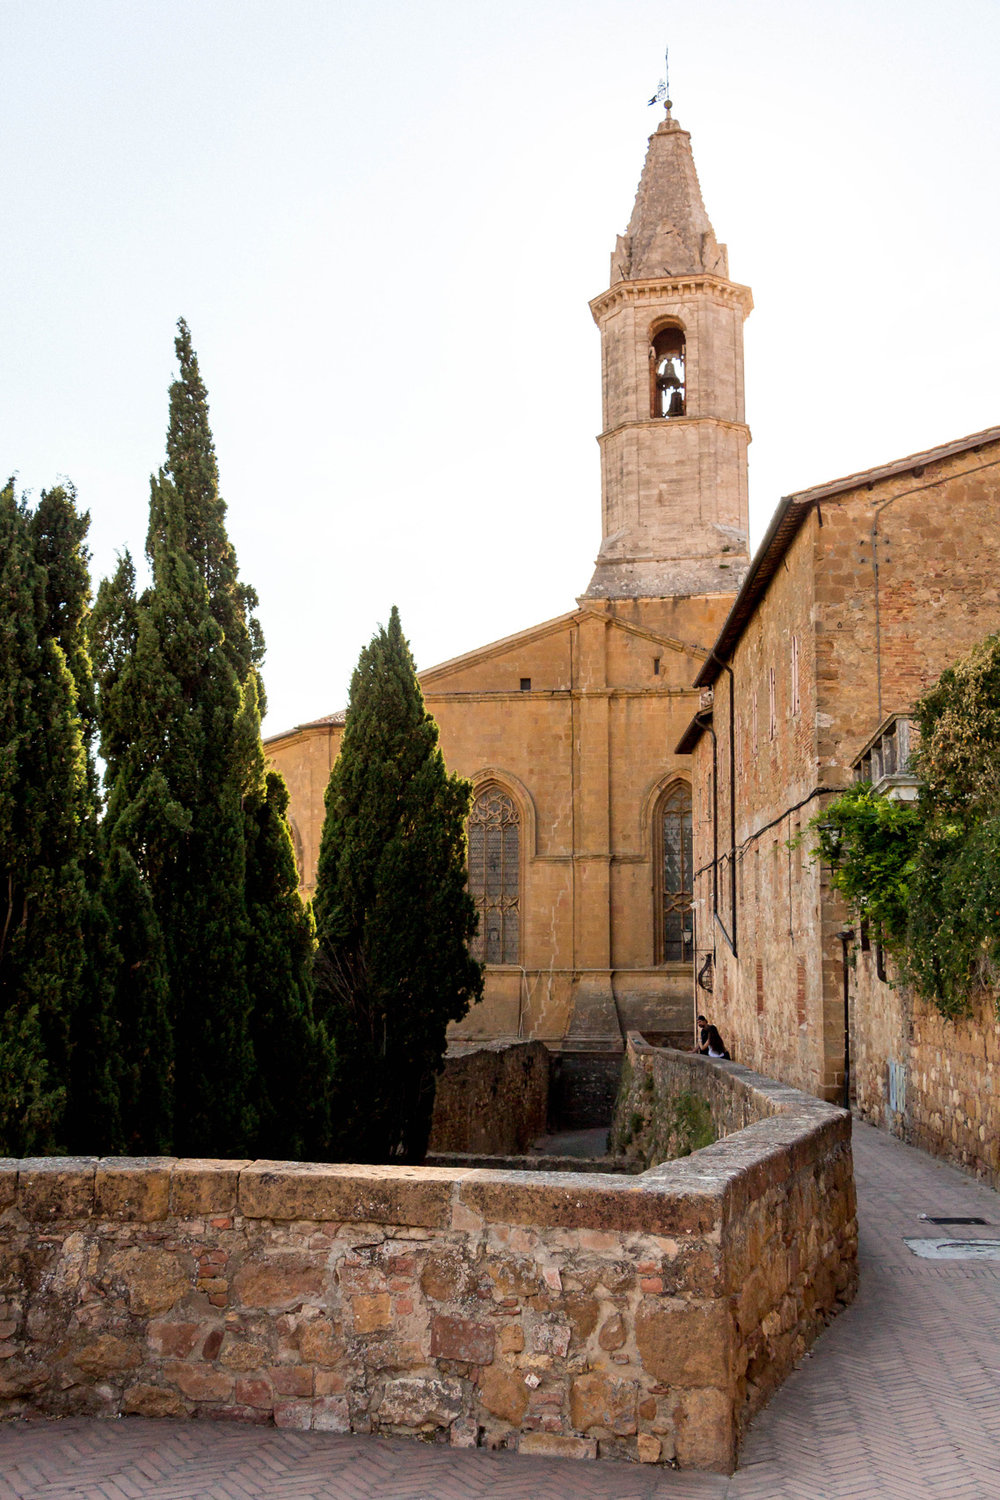
[[[0,1162],[0,1407],[730,1468],[855,1198],[846,1114],[708,1066],[756,1122],[640,1178]]]

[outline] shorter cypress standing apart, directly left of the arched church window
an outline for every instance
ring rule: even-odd
[[[343,1160],[423,1160],[447,1024],[483,993],[468,946],[469,798],[445,770],[393,608],[351,681],[313,902]]]

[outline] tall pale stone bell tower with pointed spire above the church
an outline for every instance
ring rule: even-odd
[[[748,564],[744,320],[670,116],[649,150],[601,330],[601,550],[585,598],[733,594]]]

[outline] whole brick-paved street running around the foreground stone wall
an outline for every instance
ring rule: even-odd
[[[732,1479],[198,1422],[0,1426],[0,1500],[1000,1500],[1000,1196],[855,1125],[862,1290],[760,1414]],[[981,1215],[945,1228],[919,1215]]]

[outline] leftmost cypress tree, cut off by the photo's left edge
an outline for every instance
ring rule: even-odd
[[[31,522],[0,490],[0,1154],[64,1144],[85,972],[87,759]]]

